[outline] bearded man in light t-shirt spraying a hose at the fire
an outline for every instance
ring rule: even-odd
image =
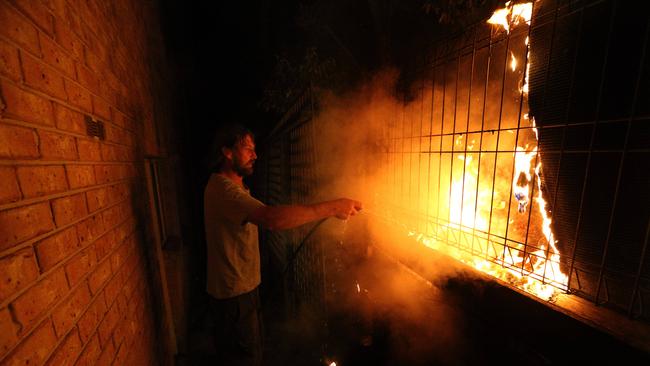
[[[257,227],[294,228],[335,216],[346,220],[361,202],[341,198],[311,205],[266,206],[243,178],[253,173],[255,141],[242,126],[222,129],[215,142],[215,172],[204,191],[207,292],[217,317],[217,351],[224,365],[261,365],[261,282]]]

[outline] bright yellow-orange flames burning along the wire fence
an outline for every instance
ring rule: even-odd
[[[494,12],[488,23],[510,33],[519,24],[530,26],[532,8],[532,3],[507,2],[505,8]],[[524,43],[522,49],[529,53],[528,37]],[[515,55],[510,51],[510,69],[516,71],[518,59],[528,60],[527,56]],[[517,98],[523,98],[523,111],[528,110],[529,71],[530,63],[526,62],[520,87],[514,89],[519,91],[519,96],[508,102],[518,105]],[[507,155],[512,148],[502,151],[497,147],[499,156],[505,158],[493,157],[492,165],[487,169],[482,159],[489,158],[489,154],[484,157],[481,151],[473,151],[477,144],[475,139],[466,142],[469,138],[465,136],[469,135],[455,135],[453,159],[445,163],[451,165],[451,176],[437,177],[436,183],[440,185],[437,198],[427,196],[427,212],[433,212],[438,217],[437,226],[424,230],[411,228],[408,235],[427,247],[526,292],[542,299],[551,299],[566,290],[568,277],[560,269],[560,252],[542,194],[542,164],[535,120],[525,113],[518,125],[517,130],[499,131],[503,140],[517,142],[514,152],[510,153],[510,160]],[[442,148],[442,143],[440,146]],[[437,162],[440,166],[442,159],[441,154]],[[406,166],[406,163],[403,164]],[[440,172],[445,171],[446,167],[440,168]],[[403,169],[406,170],[406,167]],[[448,197],[445,193],[447,189]],[[438,223],[445,221],[440,220],[441,217],[448,217],[448,222]],[[450,238],[453,245],[449,245]]]

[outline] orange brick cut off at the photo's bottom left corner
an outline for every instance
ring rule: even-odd
[[[46,319],[5,359],[6,365],[41,365],[55,346],[54,329]]]

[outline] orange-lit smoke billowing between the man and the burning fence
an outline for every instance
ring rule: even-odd
[[[325,250],[332,265],[326,269],[327,282],[335,286],[328,299],[334,317],[331,348],[336,353],[335,344],[356,344],[357,351],[346,351],[348,361],[366,349],[381,358],[376,364],[458,364],[464,322],[455,300],[440,287],[467,274],[457,261],[407,235],[405,224],[413,221],[412,212],[424,210],[427,203],[415,202],[415,195],[405,192],[396,195],[390,186],[396,176],[394,164],[388,164],[395,150],[391,137],[404,128],[403,120],[430,118],[421,108],[426,92],[414,90],[411,101],[399,100],[397,77],[396,71],[387,70],[343,95],[323,91],[318,98],[313,120],[316,162],[310,168],[319,190],[313,200],[349,197],[364,204],[358,217],[330,221],[321,229],[322,242],[331,243]],[[428,93],[431,98],[431,88]],[[431,111],[424,113],[430,116]],[[407,187],[428,187],[424,178],[406,177]],[[400,209],[409,204],[416,207]]]

